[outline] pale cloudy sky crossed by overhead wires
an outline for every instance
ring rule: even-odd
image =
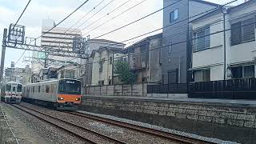
[[[22,13],[22,10],[26,6],[26,3],[29,0],[0,0],[0,39],[2,41],[2,33],[4,28],[8,28],[10,23],[15,23]],[[113,2],[111,2],[113,1]],[[67,18],[66,21],[62,22],[59,27],[70,28],[75,22],[82,18],[77,25],[73,28],[79,28],[82,30],[82,34],[88,35],[88,31],[94,29],[94,27],[106,22],[110,18],[122,13],[122,11],[134,6],[142,0],[130,0],[125,5],[120,7],[118,10],[114,10],[116,7],[122,5],[122,3],[128,0],[89,0],[81,9],[74,13],[70,18]],[[214,2],[218,4],[225,4],[232,0],[207,0],[208,2]],[[54,19],[56,23],[60,22],[73,10],[75,10],[79,5],[85,2],[85,0],[31,0],[30,5],[27,7],[22,18],[18,22],[20,25],[26,26],[26,37],[37,38],[41,34],[42,19]],[[90,14],[84,17],[90,10],[94,8],[99,2],[102,2],[98,7],[96,7]],[[108,2],[111,2],[110,5],[106,6],[94,17],[90,18]],[[103,26],[99,27],[96,30],[90,32],[90,38],[96,38],[110,30],[114,30],[120,26],[126,25],[129,22],[132,22],[138,18],[142,18],[146,14],[150,14],[158,9],[162,8],[162,0],[146,0],[142,2],[139,6],[134,7],[130,11],[122,14],[121,16],[115,18],[114,20],[107,22]],[[244,2],[244,0],[238,0],[232,5],[238,5]],[[110,11],[114,12],[108,14]],[[108,14],[108,15],[107,15]],[[96,21],[98,18],[106,15],[100,21],[95,22],[93,25],[89,26],[90,23]],[[81,26],[82,22],[88,20],[84,25]],[[127,26],[121,30],[115,31],[114,33],[107,34],[101,38],[106,38],[116,42],[122,42],[126,39],[133,38],[140,34],[145,34],[151,30],[156,30],[162,27],[162,11],[154,14],[148,18],[143,19],[142,21],[136,22],[130,26]],[[84,30],[83,30],[84,29]],[[155,34],[160,33],[161,31],[155,32]],[[151,34],[150,34],[151,35]],[[146,35],[147,36],[147,35]],[[145,37],[146,37],[145,36]],[[130,42],[125,42],[127,45],[136,42],[142,38],[134,39]],[[40,43],[40,39],[37,43]],[[1,49],[2,51],[2,49]],[[6,59],[5,67],[10,66],[10,62],[18,62],[16,66],[24,67],[30,62],[23,62],[23,58],[18,61],[18,58],[21,57],[24,50],[16,50],[11,48],[6,48]],[[32,52],[26,51],[24,54],[26,57],[31,57]]]

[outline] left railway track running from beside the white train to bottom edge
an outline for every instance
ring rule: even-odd
[[[50,125],[56,126],[59,129],[64,130],[71,135],[74,135],[75,137],[82,139],[82,141],[84,141],[84,142],[94,143],[94,144],[96,144],[96,143],[126,144],[126,142],[122,142],[116,138],[111,138],[110,136],[108,136],[106,134],[100,134],[94,130],[90,130],[90,129],[87,129],[82,126],[78,126],[77,124],[74,124],[72,122],[66,122],[60,118],[54,117],[53,115],[45,114],[45,113],[42,113],[41,111],[33,110],[26,106],[15,105],[15,104],[12,104],[12,106],[18,108],[19,110],[26,112],[27,114],[31,114],[34,117],[41,119],[44,122],[50,123]],[[65,124],[65,125],[63,125],[63,124]],[[71,128],[68,128],[68,127],[71,127]],[[86,134],[88,134],[88,133],[93,134],[94,136],[97,136],[97,138],[102,138],[102,140],[99,140],[101,142],[97,142],[97,140],[95,140],[94,138],[91,138],[91,139],[87,138],[88,135],[86,136],[86,135],[83,135],[82,133],[78,133],[78,130],[83,130],[86,132]]]

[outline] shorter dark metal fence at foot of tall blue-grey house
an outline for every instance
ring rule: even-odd
[[[147,94],[187,94],[187,84],[147,85]]]

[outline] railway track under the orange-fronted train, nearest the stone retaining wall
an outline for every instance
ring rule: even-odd
[[[109,119],[109,118],[102,118],[102,117],[98,117],[95,115],[90,115],[90,114],[83,114],[83,113],[78,113],[78,112],[69,112],[69,114],[74,114],[76,116],[80,116],[83,118],[89,118],[92,119],[94,121],[98,121],[98,122],[105,122],[108,123],[110,125],[114,125],[114,126],[120,126],[120,127],[124,127],[126,129],[130,129],[130,130],[136,130],[138,132],[144,133],[144,134],[151,134],[153,136],[157,136],[160,138],[165,138],[168,139],[172,142],[178,142],[178,143],[187,143],[187,144],[211,144],[214,142],[206,142],[200,139],[196,139],[196,138],[188,138],[186,136],[182,136],[182,135],[178,135],[178,134],[171,134],[162,130],[155,130],[155,129],[150,129],[147,127],[142,127],[142,126],[137,126],[134,124],[130,124],[130,123],[126,123],[126,122],[120,122],[120,121],[116,121],[113,119]]]

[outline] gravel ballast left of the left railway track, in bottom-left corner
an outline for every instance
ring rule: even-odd
[[[11,118],[18,123],[14,126],[14,134],[18,137],[19,143],[85,143],[82,140],[66,133],[66,131],[60,130],[55,126],[52,126],[46,122],[42,122],[38,118],[30,114],[26,114],[22,110],[18,110],[14,106],[3,103],[6,113],[10,114]]]

